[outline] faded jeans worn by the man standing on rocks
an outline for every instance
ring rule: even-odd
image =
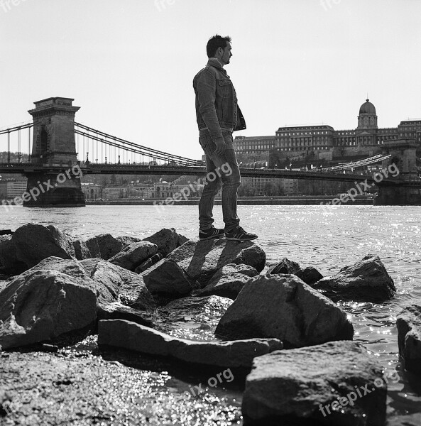
[[[204,185],[202,197],[199,201],[200,229],[209,229],[214,222],[212,209],[215,195],[222,187],[222,215],[225,222],[225,231],[229,232],[239,225],[237,216],[237,189],[240,186],[240,170],[232,144],[232,132],[222,129],[222,136],[226,149],[222,155],[214,153],[216,145],[212,141],[209,131],[202,129],[199,132],[199,143],[206,154],[207,184]]]

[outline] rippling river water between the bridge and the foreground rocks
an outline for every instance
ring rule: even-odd
[[[395,281],[395,298],[381,304],[339,305],[354,324],[354,339],[378,357],[386,373],[399,371],[400,381],[388,383],[389,419],[421,412],[421,395],[399,368],[395,327],[403,307],[421,305],[420,214],[421,207],[239,206],[241,225],[259,235],[255,242],[266,251],[268,264],[288,257],[332,275],[367,253],[380,256]],[[214,218],[216,226],[223,225],[221,207],[214,208]],[[144,238],[173,227],[191,239],[197,237],[198,219],[195,206],[15,207],[1,213],[0,229],[15,230],[28,222],[54,224],[77,238],[104,233]]]

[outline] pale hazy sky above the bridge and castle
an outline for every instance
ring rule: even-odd
[[[236,136],[354,129],[367,92],[380,127],[421,117],[421,0],[13,2],[0,0],[0,128],[71,97],[87,126],[200,158],[192,79],[215,33],[232,38]]]

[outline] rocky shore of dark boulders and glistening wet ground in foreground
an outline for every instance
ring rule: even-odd
[[[393,300],[376,255],[323,277],[251,241],[26,224],[0,274],[0,425],[386,425],[394,378],[337,305]],[[421,378],[421,307],[397,327]]]

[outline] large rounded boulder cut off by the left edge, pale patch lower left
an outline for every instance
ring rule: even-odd
[[[36,270],[15,278],[0,293],[0,346],[49,341],[93,324],[97,296],[86,280]]]

